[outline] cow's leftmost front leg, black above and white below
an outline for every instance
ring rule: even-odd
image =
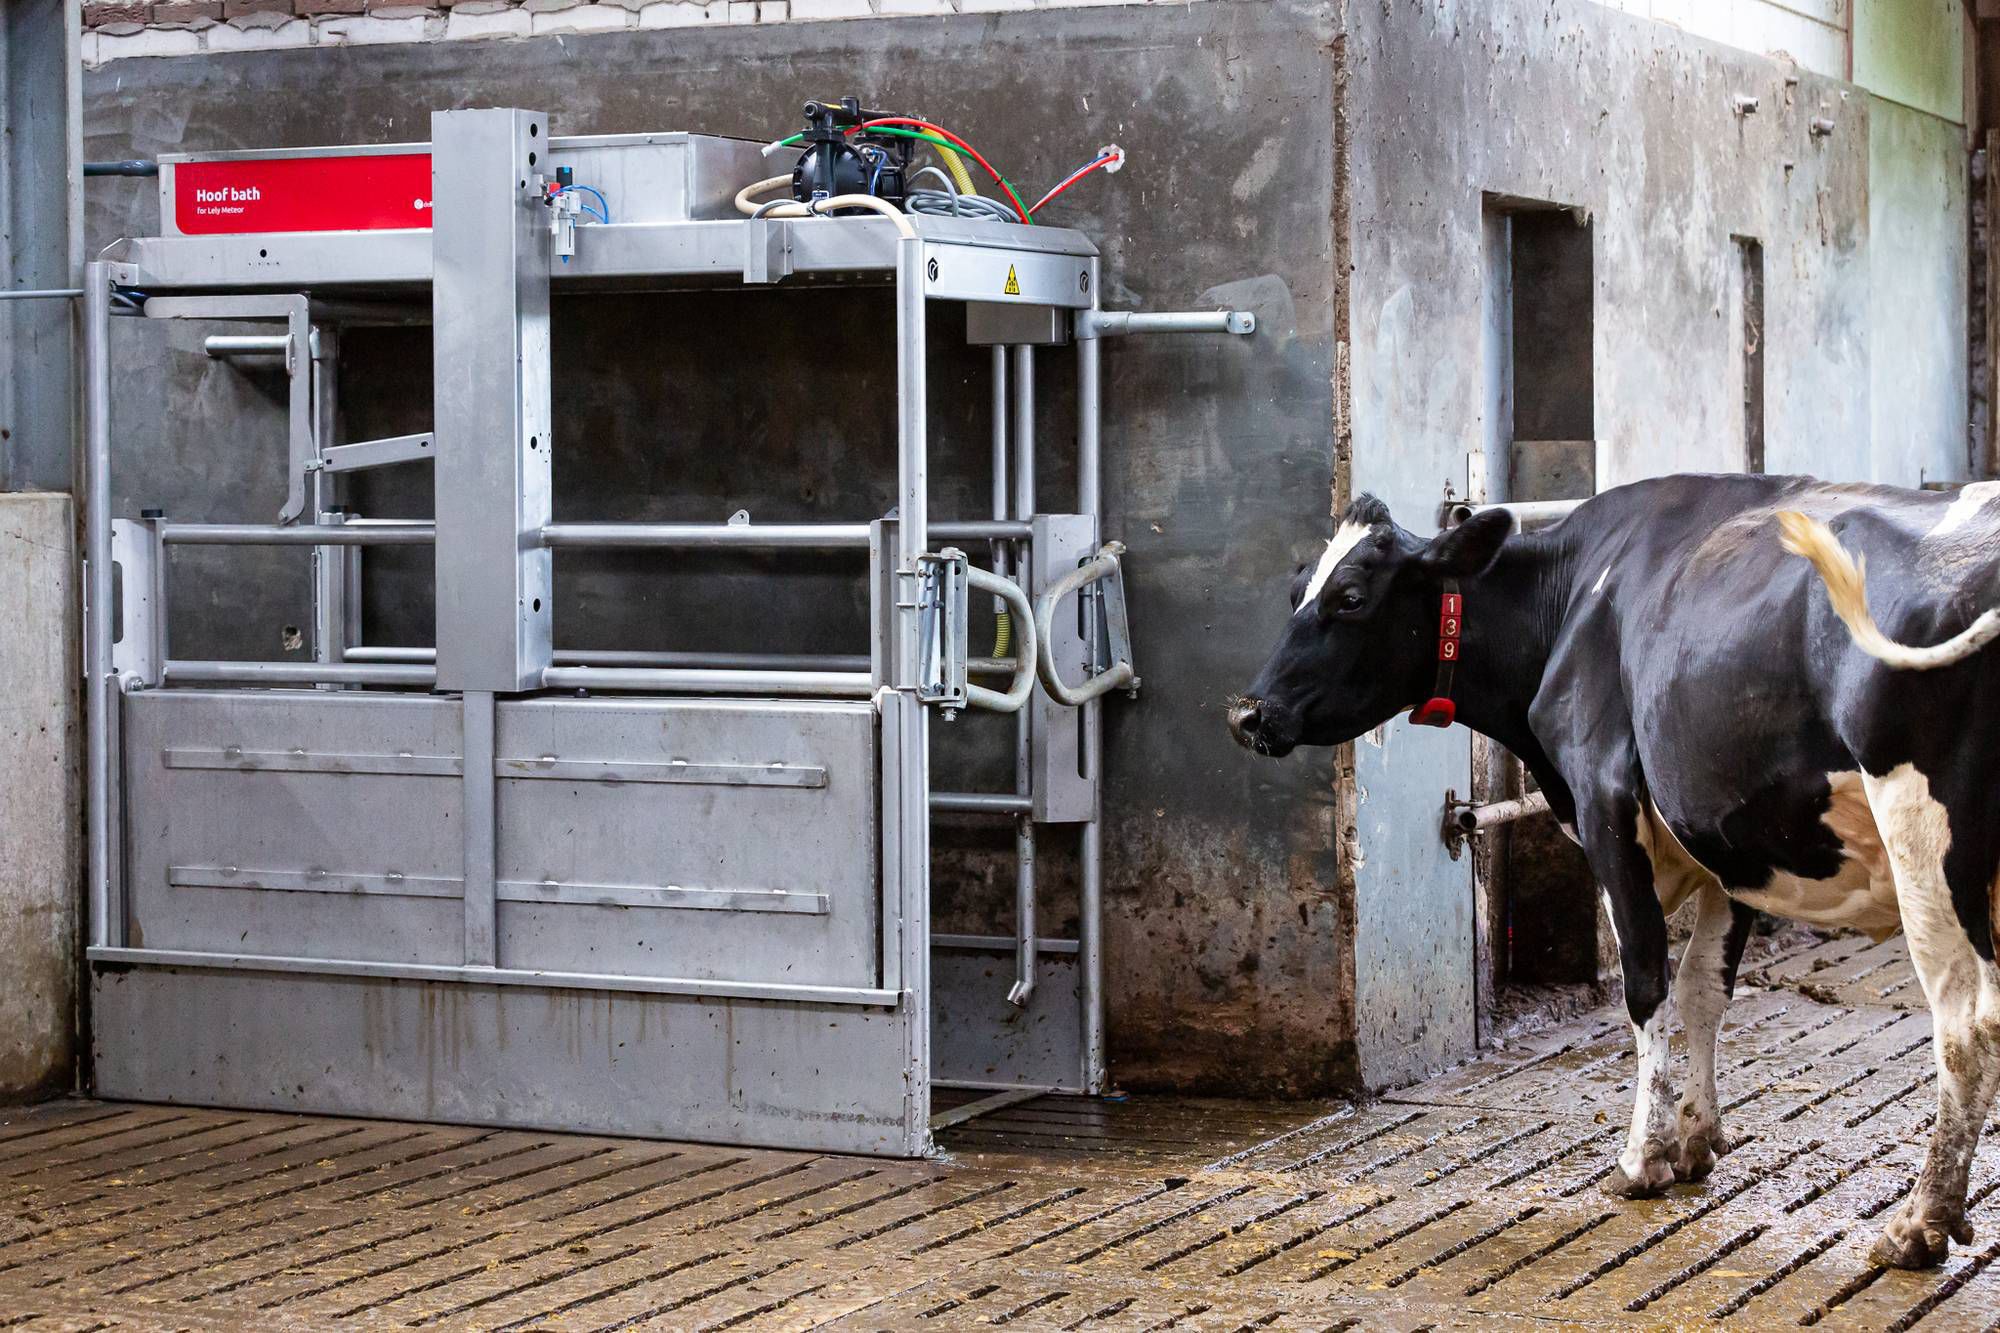
[[[1604,891],[1612,933],[1618,935],[1626,1013],[1638,1047],[1632,1133],[1604,1181],[1604,1193],[1620,1199],[1660,1195],[1674,1183],[1674,1163],[1680,1157],[1674,1089],[1666,1067],[1666,915],[1652,889],[1652,859],[1638,839],[1640,819],[1634,789],[1592,801],[1588,813],[1578,811],[1576,821],[1590,871]]]

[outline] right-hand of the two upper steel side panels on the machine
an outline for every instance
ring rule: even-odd
[[[502,703],[500,965],[874,985],[876,747],[866,703]],[[814,785],[624,777],[774,765]]]

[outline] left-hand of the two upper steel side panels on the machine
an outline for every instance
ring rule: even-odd
[[[140,691],[126,699],[122,731],[132,945],[462,959],[462,787],[454,777],[186,767],[190,753],[230,751],[456,755],[452,701]],[[342,891],[300,893],[298,883]]]

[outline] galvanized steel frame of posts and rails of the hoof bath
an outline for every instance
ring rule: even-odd
[[[446,116],[470,116],[464,112],[440,114],[438,128]],[[494,118],[508,118],[500,128]],[[478,124],[474,124],[478,118]],[[1084,749],[1092,785],[1088,819],[1082,831],[1082,937],[1078,941],[1038,939],[1034,933],[1034,781],[1030,775],[1030,729],[1022,723],[1018,737],[1018,781],[1014,793],[932,793],[928,723],[930,711],[918,701],[918,618],[914,614],[916,580],[922,556],[934,540],[988,540],[994,550],[1008,556],[996,564],[1012,562],[1026,570],[1030,562],[1030,534],[1036,518],[1034,498],[1034,350],[996,348],[996,392],[994,392],[994,490],[996,506],[992,520],[932,524],[928,512],[928,438],[926,400],[928,384],[924,376],[924,346],[928,330],[928,300],[932,298],[980,298],[980,300],[1020,300],[1028,304],[1048,304],[1078,312],[1078,320],[1098,306],[1098,260],[1096,248],[1074,232],[1056,228],[1000,230],[990,224],[966,224],[952,218],[912,218],[918,234],[896,238],[888,222],[872,218],[838,222],[684,222],[646,224],[630,228],[606,228],[590,236],[594,254],[580,252],[574,264],[552,272],[546,262],[546,242],[538,238],[538,228],[522,222],[530,210],[520,208],[522,190],[516,188],[520,174],[518,160],[528,152],[528,140],[542,140],[546,118],[530,112],[482,112],[464,122],[466,144],[454,142],[450,132],[434,134],[440,142],[440,230],[454,232],[460,240],[448,244],[458,256],[478,252],[482,262],[466,270],[466,282],[450,298],[442,286],[454,286],[458,278],[452,264],[432,268],[430,232],[392,232],[366,236],[282,236],[282,238],[232,238],[232,236],[162,236],[118,242],[106,252],[106,260],[94,262],[86,270],[84,282],[84,374],[86,374],[86,464],[88,464],[88,540],[90,540],[90,580],[88,580],[88,671],[90,671],[90,903],[92,935],[90,959],[96,983],[106,985],[126,969],[144,969],[160,977],[160,985],[180,985],[194,1003],[224,1003],[224,997],[250,995],[232,977],[276,977],[318,975],[360,979],[402,991],[386,991],[386,997],[406,995],[408,987],[432,985],[474,985],[474,993],[486,987],[532,987],[560,991],[614,991],[632,995],[670,995],[698,1003],[786,1003],[802,1005],[802,1019],[812,1023],[812,1005],[860,1005],[884,1011],[886,1017],[900,1015],[896,1025],[902,1041],[902,1135],[896,1143],[882,1141],[878,1131],[856,1135],[852,1141],[838,1131],[816,1127],[800,1139],[800,1147],[846,1145],[856,1151],[894,1151],[920,1155],[928,1151],[928,1103],[932,1081],[930,1051],[930,963],[932,949],[1012,949],[1016,953],[1016,1003],[1026,1005],[1034,995],[1036,957],[1046,953],[1058,959],[1078,961],[1080,981],[1076,993],[1076,1023],[1080,1067],[1074,1077],[1058,1083],[1034,1081],[1022,1087],[1066,1087],[1076,1091],[1100,1091],[1104,1087],[1104,1021],[1102,1021],[1102,931],[1100,931],[1100,839],[1096,825],[1096,783],[1098,783],[1098,719],[1096,705],[1086,707]],[[558,140],[566,142],[566,140]],[[470,170],[464,190],[470,194],[492,194],[474,208],[464,210],[464,222],[452,222],[454,210],[444,206],[452,162],[460,166],[474,158],[484,158]],[[266,154],[268,156],[268,154]],[[502,158],[506,158],[502,162]],[[502,170],[504,168],[504,170]],[[492,180],[488,180],[492,176]],[[502,176],[506,180],[502,180]],[[502,188],[506,186],[506,188]],[[450,186],[456,188],[456,186]],[[514,200],[514,214],[498,202],[500,196]],[[536,214],[538,216],[538,214]],[[470,230],[458,230],[458,228]],[[496,230],[498,228],[498,230]],[[878,270],[890,276],[896,288],[896,366],[898,366],[898,518],[890,524],[558,524],[550,522],[546,502],[530,502],[522,508],[524,496],[534,500],[536,476],[546,478],[546,294],[552,278],[606,278],[606,276],[678,276],[712,282],[752,280],[744,254],[752,230],[782,228],[778,246],[766,246],[782,256],[782,272],[758,274],[762,280],[786,274],[812,272],[854,272]],[[252,248],[256,264],[250,264]],[[268,252],[266,252],[268,250]],[[280,252],[282,250],[282,252]],[[454,260],[456,262],[456,260]],[[996,264],[1000,268],[996,268]],[[992,270],[992,272],[988,272]],[[502,308],[488,312],[478,306],[482,292],[492,296],[494,274],[514,274],[512,288],[502,280],[498,296]],[[996,272],[1008,274],[1008,284],[1020,284],[1022,292],[1000,294],[984,290]],[[300,440],[294,438],[294,476],[310,476],[310,486],[296,496],[298,512],[288,508],[288,518],[310,514],[308,522],[278,526],[266,524],[178,524],[146,522],[118,524],[120,538],[138,542],[156,570],[164,564],[164,546],[174,542],[198,544],[310,544],[316,550],[316,656],[314,662],[184,662],[172,660],[164,642],[164,606],[152,596],[140,606],[156,616],[148,624],[148,648],[132,662],[114,662],[112,640],[112,520],[110,520],[110,356],[108,320],[112,316],[112,294],[122,284],[144,284],[146,290],[166,292],[148,302],[148,314],[156,316],[236,316],[236,318],[286,318],[286,354],[296,362],[324,356],[324,374],[294,374],[300,404],[294,404],[294,434],[304,426],[304,456]],[[424,522],[370,522],[350,520],[326,508],[318,488],[320,478],[330,470],[342,470],[352,458],[356,464],[394,462],[424,456],[426,444],[420,436],[408,440],[382,440],[368,444],[346,444],[352,454],[328,452],[332,444],[332,324],[316,326],[314,302],[304,296],[218,296],[228,288],[242,286],[282,286],[288,290],[308,288],[398,288],[432,284],[436,300],[436,326],[440,348],[452,344],[464,364],[480,364],[482,370],[468,378],[468,384],[486,384],[494,374],[506,374],[516,382],[516,394],[502,398],[500,408],[506,420],[478,424],[464,416],[460,408],[478,412],[480,398],[464,392],[450,394],[440,388],[436,418],[436,458],[440,466],[440,498],[456,494],[464,502],[464,512],[444,512],[436,524]],[[998,280],[990,282],[998,288]],[[240,310],[236,306],[242,306]],[[254,306],[254,308],[252,308]],[[514,328],[508,340],[506,328]],[[520,340],[526,332],[526,340]],[[1080,330],[1082,334],[1082,330]],[[496,342],[498,338],[498,342]],[[326,350],[322,352],[322,340]],[[498,350],[500,356],[484,356],[482,348]],[[1098,524],[1098,342],[1078,336],[1078,452],[1080,452],[1080,494],[1078,508],[1092,532]],[[260,348],[258,348],[260,350]],[[218,354],[230,354],[224,348]],[[1008,392],[1008,356],[1014,362],[1014,384]],[[440,356],[440,364],[444,358]],[[526,372],[520,366],[526,364]],[[320,368],[320,366],[312,366]],[[522,376],[528,376],[526,398],[520,394]],[[540,374],[540,382],[532,382]],[[1012,420],[1012,468],[1008,466],[1008,420],[1006,408],[1014,408]],[[536,430],[542,426],[542,430]],[[516,468],[506,476],[468,476],[454,470],[446,460],[458,450],[452,448],[450,430],[464,432],[460,438],[500,432],[514,442]],[[538,438],[540,436],[540,438]],[[526,438],[528,452],[520,444]],[[364,458],[364,452],[368,454]],[[470,452],[470,450],[466,450]],[[490,450],[488,450],[490,452]],[[458,454],[462,460],[462,454]],[[316,466],[308,466],[316,464]],[[526,472],[522,472],[526,466]],[[1008,476],[1012,472],[1012,476]],[[452,480],[452,478],[458,480]],[[1012,480],[1012,486],[1008,484]],[[1014,512],[1008,514],[1006,498],[1012,490]],[[354,642],[358,626],[356,598],[358,578],[354,576],[360,548],[368,544],[440,544],[440,554],[458,546],[458,536],[480,530],[484,512],[480,506],[502,498],[512,522],[512,548],[518,554],[516,578],[510,594],[498,598],[496,606],[506,606],[508,614],[522,602],[544,626],[540,634],[526,634],[528,654],[520,656],[522,632],[516,624],[516,654],[512,671],[490,677],[480,662],[488,656],[466,656],[462,660],[360,660],[364,648]],[[446,502],[448,506],[450,502]],[[464,532],[462,532],[464,530]],[[442,532],[442,542],[440,542]],[[878,536],[880,532],[880,536]],[[884,544],[886,542],[890,544]],[[888,580],[894,606],[884,608],[876,622],[890,628],[886,640],[878,644],[874,666],[858,671],[808,671],[808,669],[716,669],[716,666],[640,666],[640,664],[558,664],[546,634],[546,560],[556,546],[868,546],[874,560],[888,562]],[[440,560],[440,582],[442,564]],[[540,572],[538,572],[540,570]],[[150,586],[158,586],[156,580]],[[476,592],[476,590],[474,590]],[[534,606],[536,592],[544,604]],[[440,604],[446,598],[440,596]],[[456,598],[454,598],[456,600]],[[134,602],[126,602],[128,614]],[[532,624],[528,626],[534,628]],[[444,626],[440,624],[440,630]],[[446,642],[440,636],[440,642]],[[450,636],[458,642],[456,636]],[[398,652],[398,650],[384,650]],[[132,656],[130,650],[124,656]],[[994,669],[1002,664],[974,660],[972,666]],[[466,863],[462,897],[466,907],[464,965],[436,967],[410,963],[380,963],[366,959],[296,959],[296,957],[254,957],[228,951],[168,951],[134,947],[124,933],[124,853],[118,845],[124,827],[122,783],[118,777],[118,717],[120,703],[128,689],[150,689],[162,685],[316,685],[332,689],[368,687],[436,687],[460,689],[464,709],[464,747],[454,757],[456,773],[466,791]],[[534,969],[498,967],[494,913],[496,901],[508,889],[500,883],[492,863],[492,809],[494,809],[494,705],[496,695],[510,691],[532,691],[542,687],[582,687],[582,689],[628,689],[642,693],[742,693],[758,695],[808,695],[808,697],[874,697],[880,713],[880,873],[884,901],[880,911],[880,985],[878,987],[782,987],[770,983],[728,983],[690,981],[672,977],[628,977],[628,975],[580,975],[550,973]],[[300,697],[300,705],[308,697]],[[1024,719],[1026,719],[1024,711]],[[238,757],[238,765],[240,757]],[[282,767],[282,765],[280,765]],[[932,811],[990,813],[1016,819],[1020,841],[1020,883],[1016,939],[934,941],[930,937],[930,815]],[[268,991],[256,991],[266,995]],[[472,995],[472,993],[468,993]],[[394,1003],[394,1001],[392,1001]],[[484,1001],[482,1001],[484,1003]],[[102,1059],[102,1057],[100,1057]],[[116,1057],[106,1063],[108,1079],[132,1077],[134,1063],[120,1063]],[[894,1073],[894,1071],[884,1071]],[[128,1087],[128,1095],[148,1095],[144,1087]],[[152,1089],[158,1095],[174,1095],[174,1089]],[[178,1095],[188,1095],[178,1089]],[[238,1093],[242,1095],[242,1093]],[[354,1109],[354,1107],[348,1107]],[[602,1127],[602,1125],[598,1125]],[[782,1129],[772,1137],[772,1125],[750,1127],[746,1141],[784,1141]]]

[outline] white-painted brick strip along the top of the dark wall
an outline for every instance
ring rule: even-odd
[[[88,0],[84,64],[274,46],[504,40],[620,28],[1188,2],[1192,0]]]

